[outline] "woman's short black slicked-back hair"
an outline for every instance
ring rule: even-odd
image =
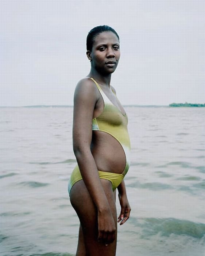
[[[105,31],[111,31],[120,40],[119,35],[115,31],[115,29],[113,29],[112,27],[107,26],[107,25],[97,26],[97,27],[94,27],[93,29],[91,29],[87,35],[87,39],[86,39],[87,50],[89,50],[89,51],[92,50],[95,37]]]

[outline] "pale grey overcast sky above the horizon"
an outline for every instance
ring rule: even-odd
[[[123,105],[205,103],[204,0],[0,0],[0,106],[73,105],[104,24],[120,36]]]

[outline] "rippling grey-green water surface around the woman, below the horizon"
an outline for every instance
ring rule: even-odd
[[[205,108],[125,107],[131,217],[117,256],[205,255]],[[73,108],[0,108],[0,255],[75,255]],[[116,201],[118,213],[119,202]]]

